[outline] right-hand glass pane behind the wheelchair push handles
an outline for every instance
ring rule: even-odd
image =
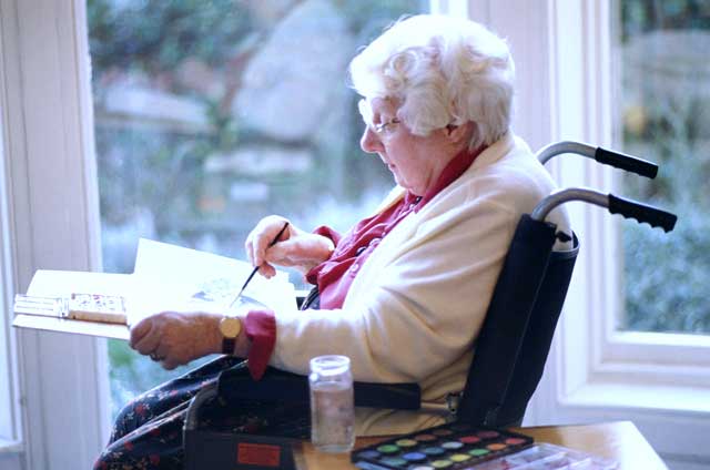
[[[710,333],[710,1],[618,2],[618,146],[659,163],[620,193],[676,213],[665,235],[625,224],[621,329]]]

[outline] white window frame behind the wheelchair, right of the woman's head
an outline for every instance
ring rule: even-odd
[[[513,49],[515,129],[534,150],[560,140],[613,147],[612,7],[610,0],[468,1],[470,17]],[[615,190],[618,170],[558,159],[550,170],[561,186]],[[616,330],[623,308],[620,227],[631,222],[580,203],[568,210],[581,252],[526,423],[630,419],[667,462],[710,463],[702,443],[710,435],[710,338]]]

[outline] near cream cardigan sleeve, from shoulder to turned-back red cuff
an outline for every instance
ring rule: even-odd
[[[477,203],[424,222],[405,247],[383,241],[377,251],[400,254],[343,309],[276,316],[272,364],[305,374],[310,358],[341,354],[357,380],[436,374],[471,349],[518,216]]]

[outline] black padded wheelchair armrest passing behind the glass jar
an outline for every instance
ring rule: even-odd
[[[254,381],[245,367],[224,370],[217,381],[219,395],[226,399],[264,399],[304,402],[311,398],[308,378],[270,367]],[[417,410],[422,390],[418,384],[375,384],[356,381],[355,406]]]

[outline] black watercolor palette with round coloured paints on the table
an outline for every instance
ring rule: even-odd
[[[532,445],[532,438],[500,429],[454,422],[353,451],[364,470],[465,470]]]

